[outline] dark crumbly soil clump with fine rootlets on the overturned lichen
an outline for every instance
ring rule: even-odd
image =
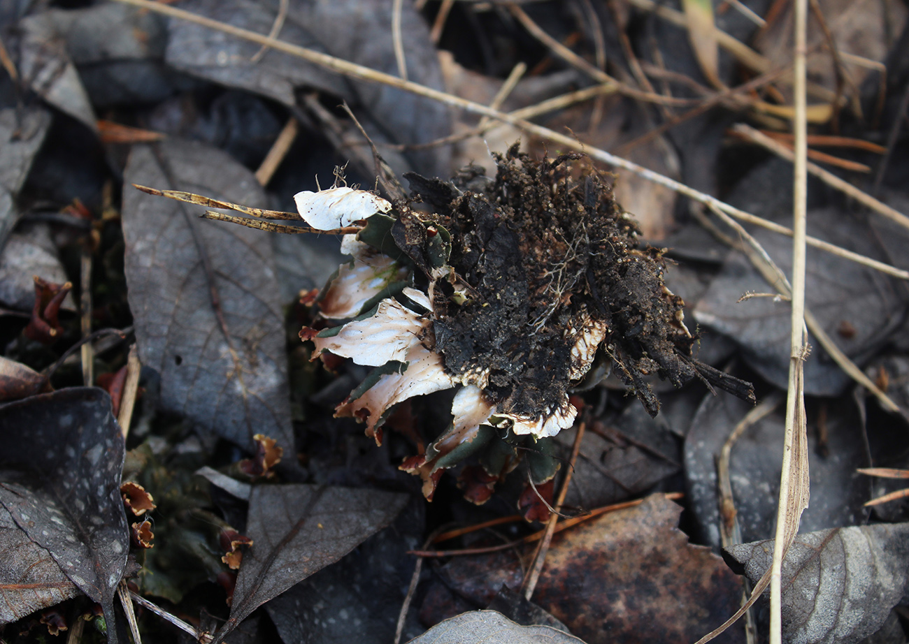
[[[450,269],[427,272],[445,369],[499,411],[536,418],[564,408],[603,344],[655,413],[644,376],[680,384],[694,374],[662,253],[640,247],[584,156],[534,161],[513,149],[497,163],[494,181],[470,169],[453,183],[408,177],[451,236]]]

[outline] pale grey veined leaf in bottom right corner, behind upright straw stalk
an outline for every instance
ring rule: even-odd
[[[752,581],[770,568],[774,541],[726,549]],[[820,530],[795,537],[783,562],[783,637],[851,644],[876,632],[909,591],[909,523]]]

